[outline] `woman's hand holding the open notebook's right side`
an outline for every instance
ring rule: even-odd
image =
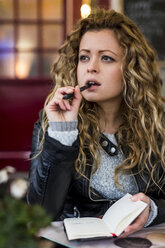
[[[138,193],[136,195],[133,195],[131,197],[132,201],[137,201],[137,200],[141,200],[143,202],[146,202],[148,204],[148,206],[144,209],[144,211],[135,219],[135,221],[129,225],[124,232],[120,235],[121,238],[125,238],[128,235],[139,231],[141,228],[144,227],[144,225],[146,224],[148,217],[149,217],[149,209],[150,209],[150,198],[148,196],[146,196],[143,193]]]

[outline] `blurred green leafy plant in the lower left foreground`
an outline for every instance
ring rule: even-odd
[[[22,198],[14,198],[9,181],[0,184],[0,191],[0,247],[38,248],[36,234],[50,224],[51,218],[41,206],[30,206]]]

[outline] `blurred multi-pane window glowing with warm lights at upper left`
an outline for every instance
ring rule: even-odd
[[[0,0],[0,78],[48,78],[65,38],[66,0]]]

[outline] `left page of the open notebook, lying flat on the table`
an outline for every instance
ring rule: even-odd
[[[112,236],[108,227],[99,218],[68,218],[64,220],[64,225],[69,240]]]

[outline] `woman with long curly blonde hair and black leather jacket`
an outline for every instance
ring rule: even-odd
[[[34,126],[28,202],[61,220],[101,216],[129,192],[148,207],[123,236],[164,222],[162,80],[137,26],[94,10],[59,49],[52,76]]]

